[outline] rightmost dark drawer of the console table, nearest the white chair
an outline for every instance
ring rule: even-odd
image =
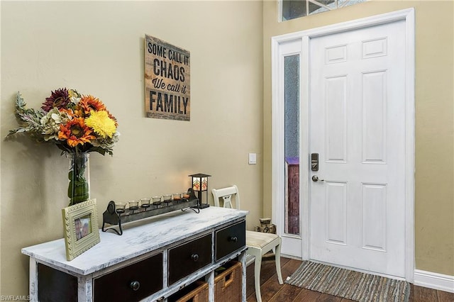
[[[246,222],[242,221],[216,231],[216,261],[246,245]]]

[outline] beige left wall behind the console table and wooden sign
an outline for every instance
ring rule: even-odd
[[[190,122],[144,118],[145,33],[191,52]],[[182,191],[187,175],[204,172],[210,188],[238,184],[248,228],[258,224],[261,1],[1,1],[1,137],[16,127],[16,91],[38,108],[65,86],[99,97],[118,118],[114,157],[90,158],[99,216],[110,200]],[[62,237],[68,163],[31,140],[0,147],[0,293],[26,295],[21,248]],[[248,152],[258,164],[248,165]]]

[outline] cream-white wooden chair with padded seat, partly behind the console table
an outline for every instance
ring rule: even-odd
[[[215,206],[219,206],[219,199],[221,198],[224,208],[233,208],[232,196],[234,196],[235,208],[240,209],[240,194],[236,185],[223,189],[211,189],[211,193],[213,193]],[[276,234],[246,230],[246,246],[248,247],[246,253],[255,257],[255,296],[257,296],[258,302],[262,302],[262,296],[260,294],[260,268],[262,267],[262,256],[270,252],[270,250],[275,250],[277,279],[279,279],[279,284],[284,284],[281,274],[281,237]]]

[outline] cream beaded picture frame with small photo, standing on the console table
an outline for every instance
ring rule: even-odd
[[[68,261],[100,242],[96,199],[63,208],[62,218]]]

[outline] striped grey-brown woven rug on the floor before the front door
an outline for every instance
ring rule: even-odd
[[[410,295],[410,284],[406,281],[310,261],[303,261],[285,283],[360,302],[408,302]]]

